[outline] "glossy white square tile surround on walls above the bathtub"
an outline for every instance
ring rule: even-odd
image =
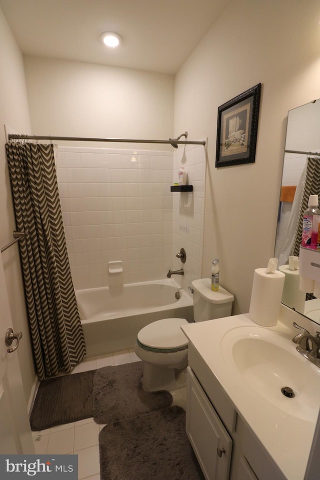
[[[76,289],[165,278],[177,260],[173,238],[176,244],[183,241],[188,253],[186,272],[199,276],[204,177],[198,177],[205,169],[199,168],[196,148],[180,153],[58,147],[58,186]],[[187,165],[190,183],[196,182],[191,197],[170,192],[173,156]],[[108,262],[116,260],[123,272],[110,274]]]

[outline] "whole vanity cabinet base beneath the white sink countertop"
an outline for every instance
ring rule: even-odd
[[[206,480],[287,480],[189,342],[186,433]]]

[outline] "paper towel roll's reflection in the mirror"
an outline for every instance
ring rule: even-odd
[[[299,289],[299,270],[290,270],[289,265],[280,265],[279,270],[285,275],[281,301],[300,313],[304,312],[305,292]]]

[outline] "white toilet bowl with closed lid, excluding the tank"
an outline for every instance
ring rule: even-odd
[[[186,323],[185,318],[162,318],[138,332],[134,349],[143,361],[145,390],[173,390],[184,385],[188,340],[180,326]]]

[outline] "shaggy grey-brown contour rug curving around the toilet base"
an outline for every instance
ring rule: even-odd
[[[172,403],[166,390],[144,391],[141,385],[142,361],[116,366],[104,366],[93,377],[93,419],[108,423],[136,416]]]

